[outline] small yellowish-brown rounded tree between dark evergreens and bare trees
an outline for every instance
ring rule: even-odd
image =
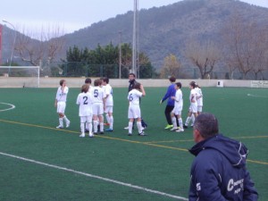
[[[181,63],[174,54],[166,56],[160,72],[160,78],[167,78],[169,76],[178,78],[180,76],[180,67]]]

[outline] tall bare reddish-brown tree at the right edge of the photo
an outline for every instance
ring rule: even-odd
[[[256,22],[245,21],[239,13],[233,13],[225,24],[222,31],[225,60],[229,66],[239,69],[243,80],[250,71],[257,79],[257,75],[267,68],[267,30]]]

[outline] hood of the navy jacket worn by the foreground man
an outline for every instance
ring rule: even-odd
[[[197,156],[202,150],[209,148],[222,153],[233,166],[241,168],[246,165],[248,154],[247,147],[239,141],[222,136],[222,134],[218,134],[212,138],[207,138],[197,143],[189,150],[189,152],[192,155]]]

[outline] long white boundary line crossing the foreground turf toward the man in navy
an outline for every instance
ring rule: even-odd
[[[54,169],[57,169],[57,170],[77,173],[77,174],[80,174],[80,175],[83,175],[83,176],[86,176],[86,177],[90,177],[90,178],[94,178],[94,179],[97,179],[97,180],[105,180],[105,181],[112,182],[112,183],[115,183],[115,184],[118,184],[118,185],[121,185],[121,186],[130,187],[130,188],[136,188],[136,189],[143,190],[143,191],[146,191],[146,192],[149,192],[149,193],[155,193],[157,195],[164,196],[164,197],[172,197],[172,198],[179,199],[179,200],[188,200],[188,198],[186,198],[186,197],[178,197],[178,196],[168,194],[168,193],[164,193],[164,192],[161,192],[161,191],[157,191],[157,190],[154,190],[154,189],[139,187],[139,186],[136,186],[136,185],[132,185],[130,183],[121,182],[119,180],[111,180],[111,179],[108,179],[108,178],[105,178],[105,177],[100,177],[100,176],[97,176],[97,175],[94,175],[94,174],[89,174],[89,173],[86,173],[86,172],[80,172],[80,171],[71,170],[69,168],[57,166],[57,165],[54,165],[54,164],[38,162],[38,161],[35,161],[35,160],[32,160],[32,159],[24,158],[24,157],[17,156],[17,155],[9,155],[9,154],[3,153],[3,152],[0,152],[0,155],[13,157],[13,158],[19,159],[21,161],[26,161],[26,162],[29,162],[29,163],[40,164],[40,165],[43,165],[43,166],[46,166],[46,167],[51,167],[51,168],[54,168]]]

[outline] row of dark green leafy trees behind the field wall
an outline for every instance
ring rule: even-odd
[[[121,46],[122,78],[128,78],[132,64],[130,44]],[[139,75],[141,78],[152,78],[155,76],[155,68],[146,54],[139,54]],[[96,46],[94,50],[79,49],[77,46],[70,47],[66,52],[69,76],[105,76],[118,78],[119,71],[119,46],[110,43],[107,46]],[[85,65],[87,63],[87,65]],[[66,66],[66,64],[65,64]],[[64,68],[64,66],[62,66]]]

